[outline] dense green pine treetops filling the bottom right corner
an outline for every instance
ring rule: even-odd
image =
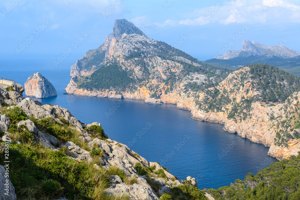
[[[215,200],[299,200],[300,199],[300,151],[272,163],[255,176],[248,173],[243,181],[237,179],[230,186],[209,189]]]

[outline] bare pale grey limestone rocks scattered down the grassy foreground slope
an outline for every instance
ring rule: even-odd
[[[9,96],[8,96],[9,99]],[[104,192],[114,196],[129,196],[130,199],[159,199],[158,195],[162,195],[164,193],[170,192],[170,187],[182,185],[181,180],[177,180],[177,178],[170,174],[169,171],[164,169],[164,167],[160,166],[159,163],[149,162],[142,156],[138,155],[136,152],[132,151],[128,148],[128,146],[118,143],[115,140],[111,139],[99,139],[98,137],[93,137],[86,128],[91,126],[100,126],[101,124],[98,122],[93,122],[91,124],[82,124],[80,123],[69,110],[62,108],[56,105],[42,105],[40,102],[32,101],[30,98],[23,99],[17,105],[9,106],[6,109],[22,109],[27,118],[34,117],[35,120],[39,119],[51,119],[57,123],[63,124],[62,121],[68,122],[71,124],[72,129],[78,131],[80,133],[79,140],[82,140],[86,146],[85,148],[99,148],[102,151],[102,156],[100,158],[100,165],[94,164],[95,169],[110,169],[111,167],[116,167],[124,172],[124,174],[133,180],[135,180],[134,184],[126,184],[122,181],[122,179],[118,175],[110,176],[110,187],[105,189]],[[7,116],[1,116],[1,128],[4,127],[7,130],[10,120]],[[49,148],[52,151],[60,151],[64,149],[64,151],[68,152],[68,157],[72,160],[76,160],[77,162],[91,162],[94,157],[91,154],[91,151],[83,149],[82,146],[75,144],[72,141],[68,141],[66,143],[61,143],[56,137],[40,131],[35,123],[30,120],[21,120],[17,123],[17,127],[27,127],[27,130],[34,135],[34,140],[36,143],[41,143],[45,148]],[[69,126],[70,127],[70,126]],[[10,135],[9,135],[10,136]],[[106,136],[106,135],[105,135]],[[20,144],[19,141],[12,141],[10,137],[4,136],[5,141],[9,141],[9,143],[17,143]],[[140,175],[136,169],[136,166],[140,166],[142,168],[148,168],[154,170],[153,172],[148,172],[146,175]],[[2,170],[0,166],[0,174],[3,175],[5,171]],[[160,173],[165,175],[164,178],[155,174],[156,171],[160,170]],[[3,177],[3,176],[1,176]],[[0,182],[2,181],[0,177]],[[191,184],[197,187],[197,182],[195,178],[187,177],[188,180],[191,180]],[[148,181],[156,182],[159,187],[152,188]],[[2,181],[3,182],[3,181]],[[3,186],[3,184],[2,184]],[[1,188],[0,188],[1,190]],[[0,194],[1,195],[1,194]],[[10,183],[10,198],[1,199],[16,199],[16,195],[14,194],[14,188]],[[0,196],[1,197],[1,196]],[[64,198],[60,198],[64,199]]]

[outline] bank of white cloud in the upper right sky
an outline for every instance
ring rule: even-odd
[[[218,22],[232,23],[300,23],[300,6],[292,0],[232,0],[217,3],[211,7],[196,9],[186,13],[182,25],[205,25]],[[192,16],[193,18],[190,19]]]

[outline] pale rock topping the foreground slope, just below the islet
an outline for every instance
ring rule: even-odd
[[[20,103],[17,104],[17,106],[24,110],[27,116],[34,116],[38,119],[54,117],[49,111],[44,110],[43,107],[35,104],[35,102],[30,98],[23,99]]]

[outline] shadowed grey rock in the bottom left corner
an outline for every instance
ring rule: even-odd
[[[4,165],[5,166],[5,165]],[[0,199],[1,200],[16,200],[16,193],[13,184],[10,182],[9,177],[4,177],[5,168],[0,165]]]

